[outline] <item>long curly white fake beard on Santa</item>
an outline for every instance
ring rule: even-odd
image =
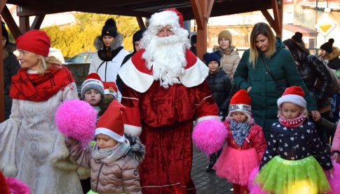
[[[149,70],[153,70],[154,79],[168,89],[169,85],[180,84],[179,75],[186,66],[184,41],[176,35],[151,38],[142,58],[147,61]]]

